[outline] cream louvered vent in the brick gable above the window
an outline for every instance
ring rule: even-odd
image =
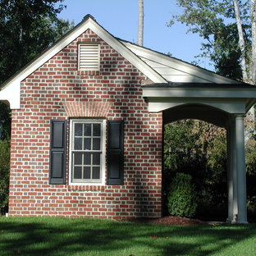
[[[80,43],[79,44],[79,70],[98,71],[99,70],[99,44]]]

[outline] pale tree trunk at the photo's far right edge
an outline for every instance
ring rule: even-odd
[[[256,19],[255,19],[255,0],[251,0],[250,10],[252,22],[252,56],[249,67],[249,81],[251,84],[256,84]]]

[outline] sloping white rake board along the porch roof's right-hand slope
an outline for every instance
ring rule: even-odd
[[[203,80],[208,80],[209,82],[216,84],[239,84],[239,81],[231,80],[230,78],[226,78],[222,75],[217,75],[212,71],[204,70],[198,66],[194,66],[187,62],[182,62],[174,57],[168,57],[162,53],[154,52],[147,48],[141,48],[136,46],[135,44],[123,42],[127,48],[140,57],[147,58],[153,62],[159,62],[165,66],[169,66],[170,68],[176,69],[178,71],[182,71],[189,75],[197,76]]]

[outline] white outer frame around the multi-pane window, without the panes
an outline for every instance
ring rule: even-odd
[[[73,122],[74,121],[80,121],[80,122],[89,122],[89,121],[101,121],[102,122],[102,166],[101,166],[101,181],[100,182],[72,182],[72,144],[73,144]],[[71,119],[70,121],[70,131],[69,131],[69,163],[68,163],[68,181],[69,181],[69,185],[105,185],[105,180],[106,180],[106,120],[105,119],[94,119],[94,118],[90,118],[90,119]]]

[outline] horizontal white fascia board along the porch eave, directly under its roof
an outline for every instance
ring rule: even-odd
[[[214,85],[213,85],[214,86]],[[159,98],[256,98],[255,89],[245,88],[143,88],[143,97]]]

